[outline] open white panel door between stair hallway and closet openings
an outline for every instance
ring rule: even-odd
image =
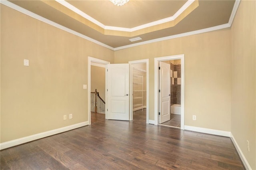
[[[107,65],[107,119],[129,120],[129,64]]]

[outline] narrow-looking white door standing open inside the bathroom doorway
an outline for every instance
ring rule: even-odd
[[[170,120],[170,64],[159,62],[159,123]]]

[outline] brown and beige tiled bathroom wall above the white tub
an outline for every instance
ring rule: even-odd
[[[181,65],[176,61],[170,63],[171,69],[171,105],[180,104],[180,75]]]

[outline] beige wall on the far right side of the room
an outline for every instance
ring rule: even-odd
[[[242,0],[232,24],[231,133],[256,169],[256,1]],[[247,142],[250,142],[250,152]]]

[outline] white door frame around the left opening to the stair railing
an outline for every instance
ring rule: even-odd
[[[91,125],[91,93],[90,93],[91,92],[91,65],[106,68],[107,64],[110,64],[110,62],[104,61],[101,59],[97,59],[97,58],[93,58],[90,56],[88,57],[88,86],[87,86],[87,89],[88,89],[87,90],[87,92],[88,92],[88,125]],[[107,76],[105,76],[105,77],[107,78]],[[106,86],[105,86],[105,93],[106,93]],[[106,100],[107,100],[107,97],[106,97]],[[106,112],[105,117],[107,118],[107,112]]]

